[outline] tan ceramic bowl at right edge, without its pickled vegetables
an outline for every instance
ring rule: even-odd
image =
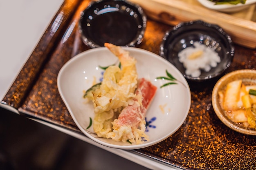
[[[247,128],[244,128],[243,126],[239,126],[238,124],[232,122],[225,115],[225,112],[222,110],[220,106],[218,91],[223,90],[229,82],[232,82],[238,79],[242,79],[243,82],[249,81],[249,82],[254,82],[256,84],[256,70],[251,70],[251,69],[237,70],[221,77],[213,88],[213,92],[212,92],[213,109],[216,115],[219,117],[219,119],[232,130],[235,130],[237,132],[247,134],[247,135],[256,135],[256,130],[247,129]]]

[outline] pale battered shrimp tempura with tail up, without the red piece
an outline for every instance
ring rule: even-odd
[[[129,99],[135,97],[138,77],[136,60],[128,51],[109,43],[105,46],[119,58],[122,69],[109,66],[103,75],[100,88],[94,92],[93,127],[99,137],[106,137],[112,131],[111,122],[115,119],[115,114],[119,114],[122,107],[128,106]]]

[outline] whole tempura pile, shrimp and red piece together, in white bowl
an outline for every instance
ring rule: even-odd
[[[101,86],[93,92],[94,132],[115,141],[141,143],[145,134],[145,115],[157,88],[146,79],[139,80],[136,60],[120,46],[105,43],[121,62],[109,66]],[[136,91],[135,91],[136,90]]]

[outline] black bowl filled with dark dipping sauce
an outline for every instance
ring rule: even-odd
[[[125,0],[94,1],[81,13],[79,30],[91,48],[105,42],[118,46],[140,44],[146,29],[142,8]]]

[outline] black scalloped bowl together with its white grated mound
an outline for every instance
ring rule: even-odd
[[[167,31],[159,53],[187,80],[202,81],[222,75],[233,61],[235,48],[220,26],[196,20]]]

